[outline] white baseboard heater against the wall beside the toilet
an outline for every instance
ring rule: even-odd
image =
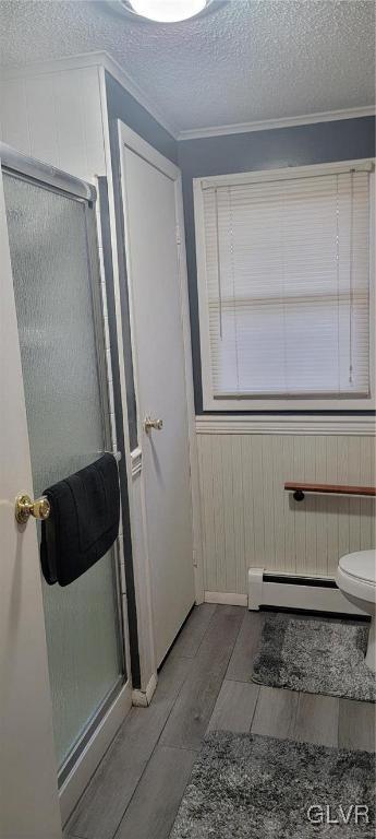
[[[248,608],[258,611],[260,606],[366,616],[343,596],[330,577],[272,574],[264,568],[250,568]]]

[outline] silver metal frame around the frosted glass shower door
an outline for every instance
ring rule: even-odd
[[[106,343],[104,331],[104,310],[102,298],[100,293],[100,267],[98,257],[98,239],[96,227],[96,210],[95,204],[97,201],[97,190],[94,185],[80,180],[78,178],[69,175],[68,173],[57,169],[54,166],[50,166],[46,163],[28,157],[20,152],[16,152],[5,143],[0,142],[0,161],[1,173],[16,177],[21,180],[34,184],[41,189],[47,189],[51,192],[71,198],[77,201],[84,208],[85,214],[85,232],[87,244],[87,257],[88,257],[88,275],[89,287],[93,305],[93,321],[94,321],[94,336],[96,346],[96,359],[98,370],[98,383],[100,394],[100,414],[104,428],[105,449],[112,451],[111,428],[109,422],[110,402],[108,393],[108,377],[106,367]],[[96,282],[98,277],[98,282]],[[93,452],[98,454],[100,452]],[[124,456],[124,452],[121,452]],[[114,604],[116,604],[116,633],[117,633],[117,646],[119,655],[119,665],[121,673],[113,687],[104,698],[99,708],[87,720],[84,731],[78,736],[77,741],[72,745],[72,748],[61,765],[57,767],[58,784],[60,792],[60,803],[62,810],[63,823],[66,820],[70,812],[75,805],[75,799],[82,794],[82,789],[78,784],[73,784],[73,796],[71,793],[66,794],[66,804],[62,800],[64,797],[65,790],[70,780],[74,775],[75,767],[80,761],[80,758],[84,755],[88,747],[89,742],[95,736],[96,731],[101,723],[106,722],[108,714],[111,711],[111,707],[116,704],[123,687],[126,687],[128,682],[131,680],[131,673],[129,667],[129,639],[125,637],[126,615],[124,615],[121,595],[121,578],[120,578],[120,555],[119,555],[119,542],[118,539],[112,546],[112,568],[113,568],[113,587],[114,587]],[[131,688],[130,688],[131,689]],[[130,701],[131,705],[131,701]],[[87,778],[88,780],[88,778]],[[86,783],[84,784],[86,785]],[[78,796],[75,794],[75,789],[78,789]]]

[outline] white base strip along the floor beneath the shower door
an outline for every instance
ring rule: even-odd
[[[126,684],[119,692],[59,790],[61,822],[63,826],[66,824],[131,707],[131,688]]]

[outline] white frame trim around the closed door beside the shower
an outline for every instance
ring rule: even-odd
[[[147,143],[135,131],[129,128],[122,120],[118,119],[118,138],[119,138],[119,151],[120,151],[120,174],[121,174],[121,193],[123,200],[123,206],[125,204],[126,196],[126,181],[123,161],[123,149],[129,149],[135,152],[140,157],[149,163],[156,169],[161,172],[174,184],[175,193],[175,221],[177,221],[177,250],[179,259],[179,283],[180,283],[180,309],[181,320],[183,329],[183,353],[184,353],[184,370],[185,370],[185,394],[186,394],[186,407],[187,407],[187,425],[189,425],[189,457],[190,457],[190,483],[191,483],[191,498],[192,498],[192,528],[193,528],[193,557],[192,564],[194,568],[194,583],[195,583],[195,598],[196,603],[202,603],[204,600],[204,586],[203,586],[203,565],[202,565],[202,528],[201,528],[201,510],[199,510],[199,478],[198,478],[198,453],[197,453],[197,440],[195,428],[195,410],[194,410],[194,394],[193,394],[193,371],[192,371],[192,348],[191,348],[191,326],[190,326],[190,307],[189,307],[189,289],[187,289],[187,272],[186,272],[186,255],[185,255],[185,235],[184,235],[184,214],[183,214],[183,196],[182,196],[182,176],[181,170],[175,164],[165,157],[154,146]],[[125,247],[128,240],[126,218],[124,218],[124,235]],[[131,320],[131,336],[132,336],[132,353],[135,368],[135,397],[137,407],[140,405],[138,392],[137,392],[137,348],[135,346],[135,327],[134,327],[134,312],[132,305],[132,294],[129,287],[130,297],[130,320]],[[141,424],[142,417],[140,411],[137,411],[138,420],[138,440],[141,440]],[[131,453],[130,453],[131,454]],[[138,475],[143,482],[143,472]],[[143,492],[144,496],[144,492]],[[145,498],[143,501],[143,531],[144,531],[144,567],[138,569],[140,578],[147,587],[151,587],[151,572],[150,572],[150,557],[147,547],[147,528],[146,528],[146,510]],[[131,518],[132,518],[132,505],[131,505]],[[135,554],[138,552],[135,552]],[[142,552],[140,552],[140,555]],[[137,575],[137,576],[138,576]],[[150,602],[150,608],[151,602]],[[153,614],[148,615],[148,621],[153,626]],[[142,622],[140,622],[142,623]],[[147,642],[147,641],[146,641]],[[155,651],[153,643],[150,646],[150,657],[155,660]],[[156,669],[155,669],[156,670]],[[153,673],[149,674],[151,677]]]

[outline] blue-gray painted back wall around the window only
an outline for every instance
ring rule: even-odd
[[[199,359],[192,179],[209,175],[250,172],[252,169],[351,161],[361,157],[372,157],[374,154],[374,117],[318,122],[311,126],[295,126],[293,128],[253,131],[197,140],[183,140],[178,143],[178,163],[183,173],[193,375],[197,414],[204,412]],[[354,411],[351,413],[359,412]]]

